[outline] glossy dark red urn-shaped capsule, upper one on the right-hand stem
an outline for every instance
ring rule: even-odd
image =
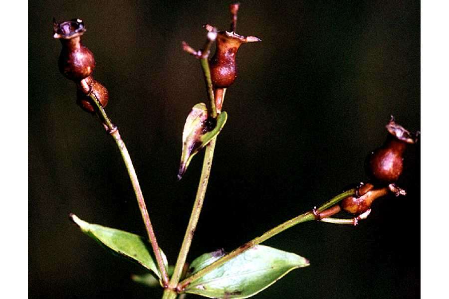
[[[384,145],[367,158],[367,172],[376,182],[394,183],[404,168],[404,151],[409,144],[415,144],[419,132],[414,136],[398,125],[394,118],[386,126],[389,135]]]

